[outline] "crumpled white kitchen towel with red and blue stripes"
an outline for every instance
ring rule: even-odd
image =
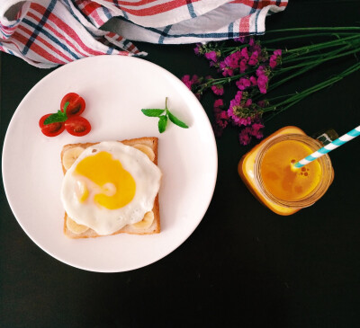
[[[43,68],[103,54],[141,56],[146,54],[131,41],[184,44],[264,34],[266,15],[283,11],[286,4],[287,0],[0,0],[0,50]]]

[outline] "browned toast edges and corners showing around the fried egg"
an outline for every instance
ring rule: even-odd
[[[157,142],[158,142],[157,137],[139,137],[139,138],[134,138],[134,139],[122,140],[119,142],[121,142],[122,144],[127,145],[127,146],[144,145],[144,146],[150,147],[155,155],[152,162],[154,164],[157,164]],[[83,144],[79,143],[79,144],[68,144],[68,145],[63,146],[62,151],[61,151],[61,165],[62,165],[62,170],[64,172],[64,175],[65,175],[65,173],[67,173],[67,170],[64,167],[63,155],[67,151],[67,149],[70,149],[71,147],[77,147],[77,146],[83,147],[85,149],[88,146],[94,146],[96,144],[99,144],[99,143],[98,142],[83,143]],[[133,234],[133,235],[158,234],[160,232],[160,210],[159,210],[159,204],[158,204],[158,194],[154,200],[154,207],[152,208],[152,212],[154,214],[154,220],[153,220],[151,226],[149,226],[147,228],[141,228],[141,227],[137,227],[134,225],[127,225],[127,226],[123,226],[120,230],[114,232],[112,235],[117,235],[117,234],[121,234],[121,233]],[[88,228],[83,233],[75,234],[74,232],[70,231],[67,228],[67,219],[68,219],[67,213],[65,213],[64,234],[67,235],[67,237],[69,237],[69,238],[93,238],[93,237],[102,236],[102,235],[96,234],[96,232],[91,228]]]

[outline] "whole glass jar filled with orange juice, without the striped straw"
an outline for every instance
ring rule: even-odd
[[[320,141],[302,129],[285,127],[244,155],[238,173],[257,199],[275,213],[292,215],[319,200],[334,179],[329,155],[300,169],[293,164],[318,150]]]

